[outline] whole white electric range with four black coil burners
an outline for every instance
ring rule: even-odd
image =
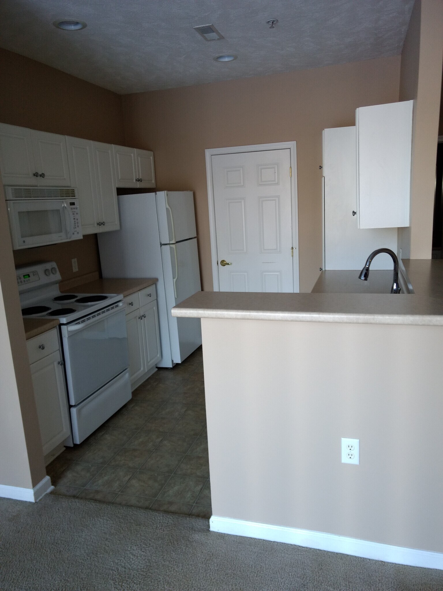
[[[55,262],[16,268],[24,318],[57,318],[72,442],[82,443],[131,399],[122,294],[62,294]]]

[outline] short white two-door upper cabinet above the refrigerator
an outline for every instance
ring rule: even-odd
[[[118,187],[155,187],[154,153],[138,148],[113,146]]]

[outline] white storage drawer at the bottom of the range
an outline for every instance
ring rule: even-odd
[[[109,417],[112,417],[123,404],[131,400],[131,396],[131,381],[129,380],[129,371],[126,370],[95,394],[77,406],[71,407],[74,443],[82,443]]]

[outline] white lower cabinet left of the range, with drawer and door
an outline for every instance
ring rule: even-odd
[[[50,343],[56,340],[58,349]],[[43,454],[46,456],[71,434],[63,362],[57,329],[27,341],[32,385],[37,405]],[[52,350],[52,352],[51,352]]]

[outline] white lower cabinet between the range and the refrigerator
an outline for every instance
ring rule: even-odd
[[[140,307],[140,301],[148,293],[154,300]],[[129,375],[133,390],[154,373],[155,364],[161,359],[155,285],[126,297],[125,303]]]

